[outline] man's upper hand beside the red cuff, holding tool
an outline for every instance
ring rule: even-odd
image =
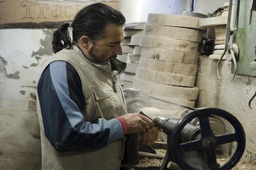
[[[154,122],[152,120],[139,113],[128,113],[120,117],[123,117],[129,125],[128,134],[142,134],[147,132],[147,129],[154,127]]]

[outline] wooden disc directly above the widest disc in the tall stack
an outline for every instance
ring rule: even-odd
[[[174,74],[169,72],[154,71],[152,69],[137,68],[136,78],[153,83],[194,87],[196,76]]]

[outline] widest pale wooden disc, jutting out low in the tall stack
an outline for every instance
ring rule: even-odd
[[[152,83],[144,81],[138,78],[133,79],[133,88],[140,89],[144,93],[151,95],[164,96],[169,98],[197,100],[198,98],[198,87],[179,87],[164,85],[158,83]]]

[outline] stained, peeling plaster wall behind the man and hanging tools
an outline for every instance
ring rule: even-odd
[[[164,1],[164,4],[169,2]],[[219,3],[222,5],[224,0]],[[188,5],[186,8],[189,10]],[[53,29],[0,29],[0,170],[40,170],[41,143],[35,94],[42,65],[52,55],[52,32]],[[216,65],[217,61],[200,59],[197,107],[218,107],[234,114],[247,136],[243,160],[256,164],[256,101],[252,102],[253,110],[248,107],[256,90],[256,80],[236,75],[230,82],[231,65],[225,61],[221,63],[222,79],[219,80]]]

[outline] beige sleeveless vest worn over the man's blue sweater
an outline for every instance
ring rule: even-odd
[[[127,114],[124,95],[115,76],[121,74],[125,66],[116,71],[112,70],[113,66],[110,63],[93,63],[75,45],[73,49],[63,49],[56,53],[47,65],[58,60],[70,63],[79,74],[85,101],[82,113],[85,121],[94,122],[100,118],[109,120]],[[119,62],[115,63],[118,65]],[[37,108],[41,129],[42,170],[120,169],[124,148],[123,140],[111,142],[98,149],[58,152],[45,136],[39,100],[37,100]]]

